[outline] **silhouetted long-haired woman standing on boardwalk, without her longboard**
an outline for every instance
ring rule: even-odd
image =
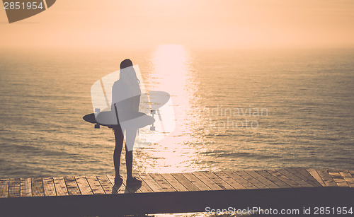
[[[141,90],[139,79],[132,66],[130,59],[125,59],[120,63],[120,78],[115,81],[112,88],[112,108],[116,111],[117,119],[124,119],[129,114],[139,112]],[[118,127],[113,127],[115,136],[115,149],[113,153],[113,162],[115,167],[115,185],[122,184],[120,177],[120,155],[122,153],[124,132],[125,132],[125,160],[127,165],[127,185],[141,184],[142,181],[137,177],[132,177],[132,149],[137,136],[137,127],[128,122],[120,122]]]

